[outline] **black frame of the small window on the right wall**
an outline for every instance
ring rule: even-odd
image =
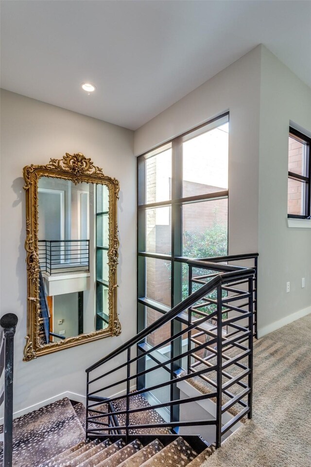
[[[310,219],[311,217],[311,161],[310,161],[311,138],[301,133],[300,131],[296,130],[292,126],[289,127],[289,137],[294,138],[296,141],[300,143],[306,144],[306,171],[305,171],[306,175],[299,175],[289,170],[288,179],[305,182],[306,188],[305,188],[304,214],[302,215],[289,214],[287,212],[287,217],[292,218],[292,219]],[[288,208],[288,204],[287,204],[287,208]]]

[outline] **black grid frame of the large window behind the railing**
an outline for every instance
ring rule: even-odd
[[[141,154],[137,158],[137,210],[138,210],[138,268],[137,268],[137,332],[145,329],[146,323],[146,307],[149,307],[159,313],[165,314],[170,309],[182,301],[182,266],[187,263],[188,258],[182,256],[182,206],[185,204],[214,200],[228,199],[229,191],[209,193],[204,195],[196,195],[191,197],[183,197],[183,170],[182,170],[182,144],[191,135],[200,134],[201,129],[204,132],[206,126],[212,125],[214,122],[221,122],[222,119],[227,119],[229,122],[229,112],[224,112],[217,117],[206,121],[200,126],[196,126],[189,131],[176,136],[155,148]],[[219,123],[221,125],[221,123]],[[215,125],[217,127],[217,125]],[[211,128],[212,129],[212,128]],[[145,192],[145,161],[150,153],[161,153],[168,147],[172,148],[172,192],[171,199],[160,202],[146,203]],[[157,152],[158,151],[158,152]],[[151,156],[150,156],[151,157]],[[171,253],[160,254],[155,252],[145,251],[145,213],[147,209],[170,206],[171,207]],[[227,245],[228,248],[228,245]],[[159,302],[148,299],[146,297],[146,258],[155,258],[165,260],[171,263],[171,306],[162,305]],[[181,330],[181,322],[173,320],[171,323],[171,335],[176,334]],[[155,351],[157,352],[157,351]],[[138,355],[141,350],[138,346]],[[177,357],[181,354],[181,338],[175,339],[171,345],[171,357]],[[149,357],[154,359],[153,354]],[[156,361],[156,360],[155,360]],[[173,363],[173,372],[178,372],[181,368],[181,360],[175,360]],[[138,360],[138,370],[145,370],[145,359]],[[137,381],[138,389],[145,388],[145,377],[139,377]],[[171,400],[178,399],[179,391],[175,385],[171,386]],[[178,420],[178,406],[173,406],[170,419],[171,421]]]

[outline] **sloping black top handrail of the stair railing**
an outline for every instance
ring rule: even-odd
[[[212,268],[215,267],[215,264],[213,264],[212,262],[205,261],[204,263],[205,263],[205,266],[210,266]],[[185,300],[183,300],[178,305],[174,306],[170,311],[165,313],[165,315],[161,316],[154,323],[150,324],[150,326],[140,331],[132,339],[129,339],[127,342],[122,344],[116,350],[110,352],[110,354],[108,354],[106,357],[98,360],[96,363],[86,368],[86,373],[89,373],[90,371],[95,370],[96,368],[103,365],[107,361],[117,357],[122,352],[124,352],[124,350],[132,347],[133,345],[135,345],[136,343],[138,343],[139,341],[147,337],[149,334],[154,332],[158,327],[162,326],[165,323],[172,321],[177,315],[179,315],[179,313],[182,313],[183,311],[188,309],[191,305],[193,305],[198,300],[200,300],[202,297],[207,295],[209,292],[213,291],[216,287],[220,286],[223,281],[225,280],[234,281],[236,279],[239,279],[242,277],[247,278],[255,274],[255,269],[243,268],[240,266],[229,266],[229,265],[224,265],[224,266],[225,266],[226,272],[219,273],[215,278],[211,279],[210,282],[202,286],[199,290],[196,290],[195,292],[191,293],[189,297],[187,297]]]

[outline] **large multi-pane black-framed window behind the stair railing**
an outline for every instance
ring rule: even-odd
[[[228,114],[224,114],[138,157],[138,331],[188,295],[187,258],[226,255],[227,245]],[[158,345],[180,325],[163,326],[145,345]],[[160,347],[149,354],[144,368],[154,364],[154,357],[163,361],[171,352],[179,355],[182,346],[180,340],[173,348]],[[146,376],[138,387],[149,383]],[[167,391],[154,396],[160,402],[170,397]]]

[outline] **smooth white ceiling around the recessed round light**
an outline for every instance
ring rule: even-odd
[[[2,0],[1,87],[136,129],[260,43],[311,86],[311,1]]]

